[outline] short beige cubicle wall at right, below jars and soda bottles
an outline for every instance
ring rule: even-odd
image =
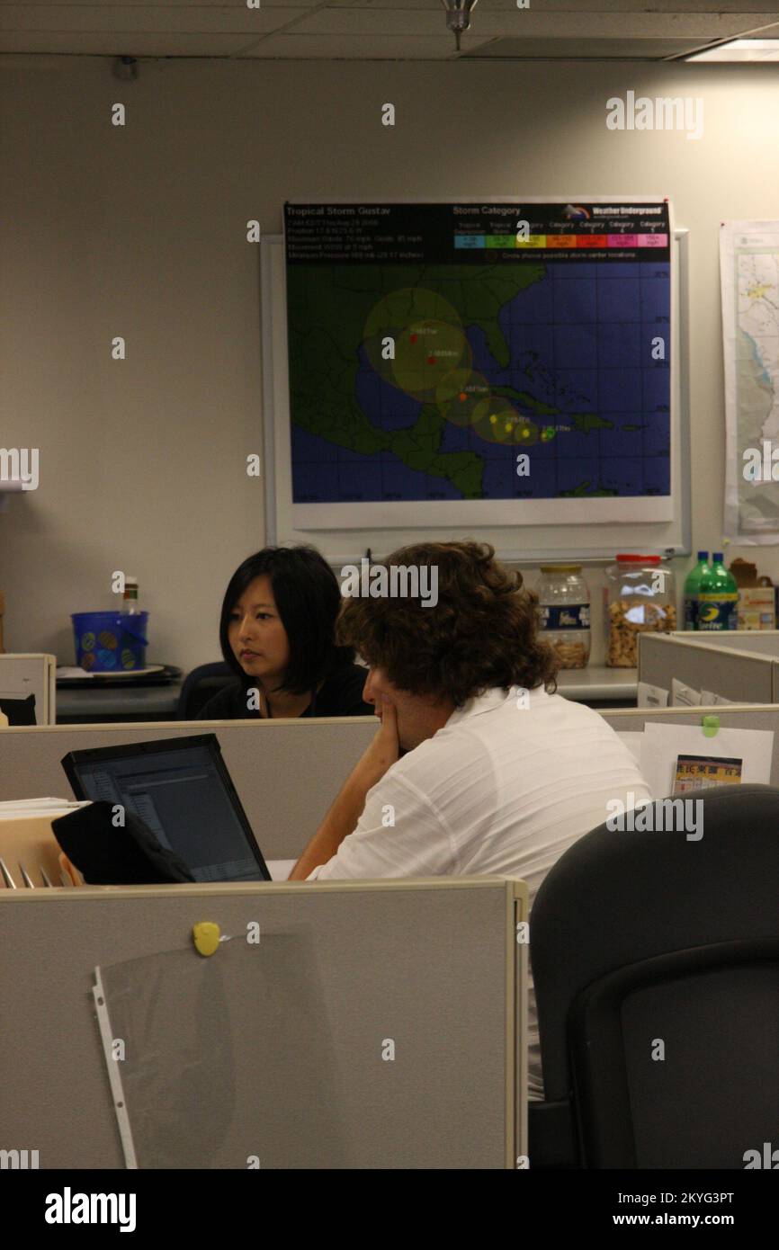
[[[638,679],[670,691],[676,678],[731,702],[778,702],[779,658],[758,646],[740,648],[736,636],[719,634],[715,645],[700,642],[696,635],[640,634]]]

